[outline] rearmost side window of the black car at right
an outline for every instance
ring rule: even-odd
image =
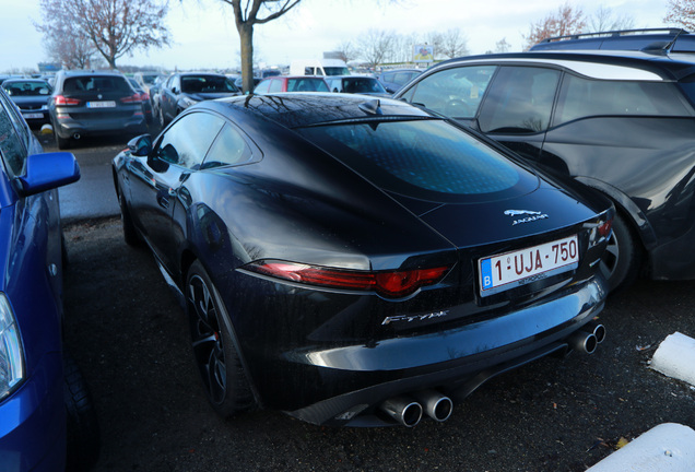
[[[590,116],[693,116],[672,83],[601,81],[566,74],[553,126]]]

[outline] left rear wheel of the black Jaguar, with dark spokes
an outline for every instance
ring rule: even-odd
[[[220,293],[200,261],[186,278],[186,311],[196,365],[210,403],[223,417],[255,405]]]

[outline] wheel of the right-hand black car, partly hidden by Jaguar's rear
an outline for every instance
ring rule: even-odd
[[[640,266],[641,246],[625,217],[616,213],[608,248],[599,264],[608,281],[609,293],[619,293],[632,285]]]

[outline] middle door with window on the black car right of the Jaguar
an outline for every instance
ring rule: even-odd
[[[551,68],[500,67],[483,99],[478,129],[538,162],[561,76],[562,71]]]

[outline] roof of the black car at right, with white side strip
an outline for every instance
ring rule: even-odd
[[[440,62],[426,73],[470,62],[543,62],[603,80],[674,81],[695,73],[695,56],[674,58],[633,50],[546,50],[468,56]]]

